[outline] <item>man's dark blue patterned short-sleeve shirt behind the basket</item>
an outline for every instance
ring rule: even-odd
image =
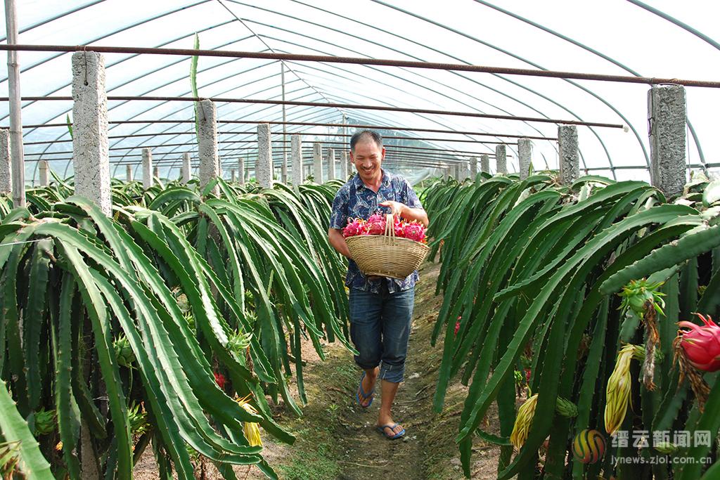
[[[365,186],[360,176],[356,173],[353,178],[340,187],[338,193],[333,200],[333,212],[330,214],[330,228],[342,230],[348,225],[348,219],[361,218],[368,219],[370,215],[378,212],[383,214],[390,213],[390,207],[382,207],[383,201],[394,200],[407,205],[410,208],[423,208],[418,199],[418,195],[413,191],[405,177],[394,175],[390,172],[382,170],[382,184],[377,194]],[[405,280],[397,280],[381,277],[376,280],[368,280],[360,271],[357,263],[349,261],[348,274],[345,278],[345,284],[351,289],[361,291],[371,291],[378,294],[382,288],[383,282],[387,282],[387,290],[390,293],[403,291],[413,288],[415,282],[420,279],[418,271],[410,273]]]

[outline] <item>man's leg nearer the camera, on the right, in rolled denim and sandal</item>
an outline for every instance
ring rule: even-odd
[[[413,319],[415,289],[389,294],[382,309],[382,404],[377,425],[394,425],[392,419],[392,402],[395,400],[397,388],[405,375],[405,357],[408,354],[410,323]],[[388,435],[402,432],[402,425],[385,428]]]

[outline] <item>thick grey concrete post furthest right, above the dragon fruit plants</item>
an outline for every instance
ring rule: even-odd
[[[687,180],[685,88],[653,86],[647,92],[650,124],[650,183],[670,198],[683,193]]]

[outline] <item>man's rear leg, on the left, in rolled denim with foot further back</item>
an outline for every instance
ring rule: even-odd
[[[365,371],[359,391],[360,404],[366,407],[372,397],[368,394],[374,389],[382,356],[380,340],[382,298],[369,291],[350,289],[350,338],[358,350],[355,363]],[[367,395],[367,398],[363,398]]]

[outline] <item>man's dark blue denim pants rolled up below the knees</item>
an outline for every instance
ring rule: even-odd
[[[380,366],[380,379],[402,381],[414,302],[415,287],[392,294],[387,285],[378,294],[350,289],[350,338],[360,368]]]

